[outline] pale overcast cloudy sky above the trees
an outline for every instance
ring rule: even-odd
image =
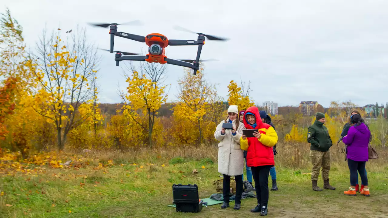
[[[315,100],[328,107],[332,100],[352,100],[359,106],[388,102],[388,1],[386,0],[0,0],[24,28],[33,49],[42,30],[87,27],[88,38],[109,49],[109,29],[87,22],[128,22],[144,26],[119,26],[137,35],[162,33],[169,39],[196,40],[197,35],[173,29],[230,38],[206,41],[201,59],[206,79],[218,84],[227,99],[230,80],[251,81],[257,104],[271,100],[279,106]],[[115,50],[141,53],[145,43],[116,37]],[[195,59],[197,47],[167,47],[175,59]],[[101,51],[100,101],[120,102],[117,84],[125,90],[120,62]],[[168,65],[169,101],[176,100],[177,78],[184,68]]]

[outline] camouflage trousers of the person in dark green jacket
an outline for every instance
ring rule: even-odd
[[[322,167],[322,179],[329,179],[330,171],[330,151],[310,151],[311,163],[313,168],[311,170],[311,180],[318,180],[319,170]]]

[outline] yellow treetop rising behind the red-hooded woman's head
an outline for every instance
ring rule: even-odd
[[[250,87],[248,83],[248,87],[244,87],[245,83],[241,82],[242,87],[239,87],[234,80],[230,81],[228,85],[228,102],[229,105],[237,105],[239,110],[247,109],[250,106],[254,106],[255,104],[249,99]],[[244,90],[245,89],[245,90]]]

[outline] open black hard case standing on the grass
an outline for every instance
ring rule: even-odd
[[[199,201],[198,186],[196,184],[173,184],[172,194],[177,212],[198,213],[202,210],[203,201]]]

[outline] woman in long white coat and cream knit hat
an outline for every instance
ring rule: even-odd
[[[236,199],[233,209],[240,209],[242,194],[242,171],[244,169],[244,153],[241,150],[240,138],[244,124],[240,122],[236,105],[228,108],[228,117],[218,124],[214,137],[218,144],[218,172],[223,174],[222,209],[229,207],[230,176],[236,180]],[[223,123],[232,123],[233,130],[222,128]]]

